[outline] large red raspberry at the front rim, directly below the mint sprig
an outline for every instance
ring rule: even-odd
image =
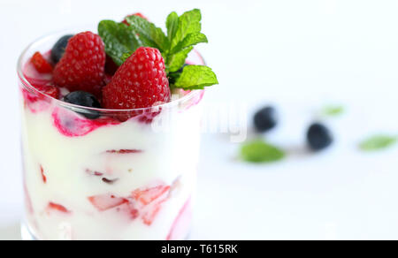
[[[137,49],[103,87],[103,107],[112,110],[149,108],[170,98],[165,60],[152,48]]]

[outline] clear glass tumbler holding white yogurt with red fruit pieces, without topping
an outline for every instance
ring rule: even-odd
[[[44,95],[33,84],[49,78],[26,64],[70,33],[44,37],[19,58],[23,238],[187,239],[204,92],[174,91],[172,102],[139,110],[85,108]],[[199,54],[189,58],[203,65]]]

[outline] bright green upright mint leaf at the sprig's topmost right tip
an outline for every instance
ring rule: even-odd
[[[202,30],[202,14],[198,9],[184,12],[179,18],[179,26],[172,38],[172,49],[182,42],[188,34],[198,34]]]

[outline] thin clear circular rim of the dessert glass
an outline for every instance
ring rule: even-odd
[[[27,45],[27,47],[25,49],[23,49],[23,51],[19,55],[18,62],[17,62],[17,73],[18,73],[19,81],[22,83],[23,87],[25,89],[27,89],[32,94],[44,95],[46,99],[56,103],[57,106],[60,106],[60,107],[63,107],[63,108],[67,108],[67,109],[70,109],[70,110],[80,110],[80,111],[83,111],[83,112],[85,112],[85,111],[86,112],[87,111],[96,111],[96,112],[101,112],[101,113],[125,113],[125,112],[134,112],[134,111],[144,111],[145,112],[145,111],[153,110],[153,109],[165,109],[165,108],[170,108],[170,107],[173,107],[173,106],[177,106],[181,102],[188,102],[190,99],[195,98],[196,95],[200,95],[204,91],[204,89],[191,90],[191,91],[188,92],[187,95],[184,95],[184,96],[180,97],[179,99],[172,100],[171,102],[165,102],[165,103],[162,103],[162,104],[159,104],[159,105],[156,105],[156,106],[147,107],[147,108],[129,109],[129,110],[112,110],[112,109],[98,109],[98,108],[92,108],[92,107],[85,107],[85,106],[80,106],[80,105],[76,105],[76,104],[69,103],[69,102],[64,102],[64,101],[56,99],[56,98],[54,98],[54,97],[52,97],[50,95],[46,95],[46,94],[42,93],[42,91],[40,91],[37,88],[35,88],[27,80],[27,78],[26,78],[26,76],[25,76],[25,74],[23,72],[23,67],[25,65],[25,63],[24,63],[24,59],[25,58],[24,57],[27,56],[27,53],[29,52],[29,50],[34,49],[35,45],[38,45],[41,42],[45,42],[46,40],[49,40],[51,36],[54,36],[56,34],[67,33],[68,31],[71,31],[71,29],[69,29],[69,30],[60,30],[60,31],[53,32],[53,33],[50,33],[50,34],[44,34],[43,36],[35,39],[33,42],[30,42]],[[203,64],[205,64],[202,55],[198,51],[196,51],[195,49],[194,49],[194,51],[203,60]]]

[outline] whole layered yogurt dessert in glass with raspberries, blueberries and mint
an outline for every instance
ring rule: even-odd
[[[27,229],[34,239],[186,239],[204,87],[201,13],[167,33],[141,14],[53,34],[19,60]]]

